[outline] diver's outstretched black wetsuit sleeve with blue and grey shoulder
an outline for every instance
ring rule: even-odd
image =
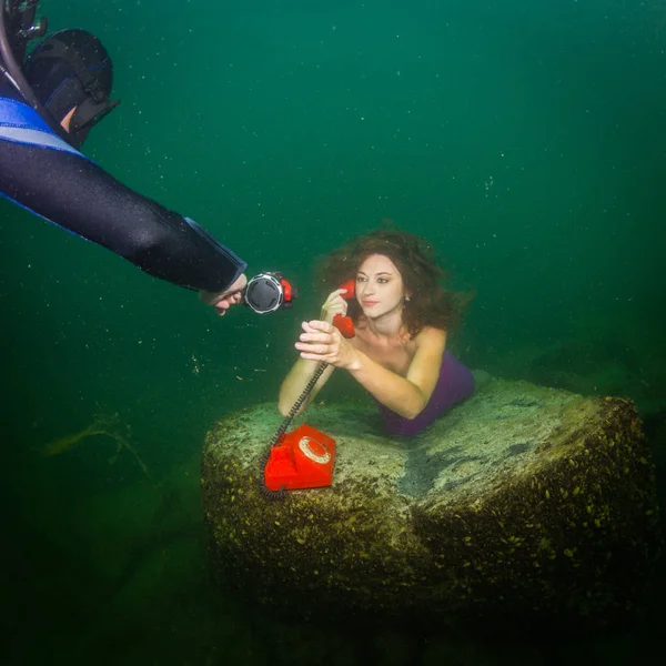
[[[16,123],[12,113],[27,121]],[[181,286],[223,291],[246,269],[192,220],[68,150],[1,74],[0,194]]]

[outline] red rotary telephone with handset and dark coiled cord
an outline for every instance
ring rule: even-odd
[[[340,285],[340,289],[346,290],[346,293],[341,294],[345,301],[354,297],[355,285],[354,279]],[[333,325],[344,337],[354,337],[354,323],[351,316],[336,314],[333,317]],[[291,433],[283,434],[327,365],[327,363],[320,363],[313,379],[276,433],[278,442],[271,446],[263,475],[263,491],[268,497],[283,497],[283,491],[319,488],[333,483],[335,440],[306,423]]]

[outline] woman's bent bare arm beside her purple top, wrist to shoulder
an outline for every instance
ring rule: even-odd
[[[446,332],[424,329],[405,377],[356,351],[350,374],[383,405],[405,418],[416,418],[427,405],[442,367]]]

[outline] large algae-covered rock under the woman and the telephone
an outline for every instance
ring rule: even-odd
[[[262,461],[281,421],[258,405],[205,442],[211,565],[246,598],[435,628],[604,626],[640,598],[659,539],[630,401],[492,380],[411,440],[386,436],[373,407],[311,407],[305,422],[336,441],[333,486],[270,501]]]

